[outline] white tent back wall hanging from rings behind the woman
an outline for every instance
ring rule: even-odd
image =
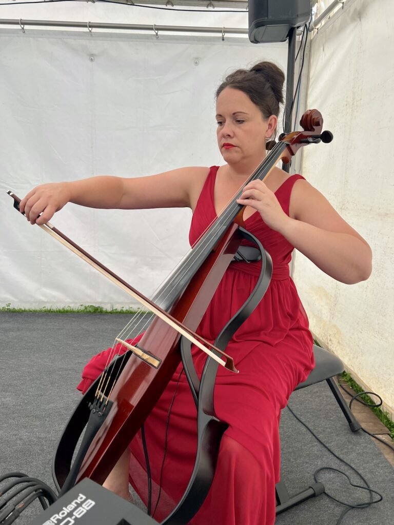
[[[133,304],[12,208],[6,190],[92,175],[132,177],[222,162],[214,91],[260,59],[286,69],[287,44],[246,39],[3,29],[0,32],[0,305]],[[196,62],[198,65],[195,65]],[[69,204],[57,228],[146,295],[188,250],[189,209]]]

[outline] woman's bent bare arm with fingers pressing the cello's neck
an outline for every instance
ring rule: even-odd
[[[372,269],[371,248],[316,188],[307,181],[297,181],[287,216],[275,194],[259,182],[253,190],[254,183],[245,187],[242,197],[247,197],[247,201],[240,199],[240,204],[258,209],[268,226],[330,277],[349,285],[368,279]],[[255,193],[257,189],[260,195]]]

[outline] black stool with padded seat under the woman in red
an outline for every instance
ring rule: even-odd
[[[337,403],[343,412],[344,416],[349,423],[350,429],[352,432],[357,432],[359,430],[360,424],[358,423],[355,416],[350,411],[346,401],[344,400],[342,394],[339,391],[339,388],[334,381],[333,377],[337,374],[340,374],[344,371],[344,365],[342,361],[337,358],[336,355],[331,354],[328,350],[324,350],[316,344],[313,346],[313,353],[315,355],[316,366],[312,372],[310,372],[308,378],[303,383],[300,383],[295,390],[300,390],[300,388],[305,388],[306,386],[314,385],[315,383],[320,383],[320,381],[327,381],[328,386],[333,392]],[[305,501],[309,498],[313,498],[322,494],[324,492],[324,485],[320,482],[312,483],[309,487],[294,496],[289,496],[286,485],[284,481],[279,481],[276,486],[276,514],[280,514],[285,510],[298,505],[302,501]]]

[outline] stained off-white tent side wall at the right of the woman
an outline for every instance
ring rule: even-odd
[[[334,140],[304,148],[303,175],[371,245],[372,275],[349,286],[299,253],[294,262],[313,332],[391,414],[393,19],[392,0],[348,0],[313,38],[309,70],[307,107]]]

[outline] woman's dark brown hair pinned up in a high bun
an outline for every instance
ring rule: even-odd
[[[260,108],[265,119],[279,114],[283,103],[285,75],[272,62],[258,62],[251,69],[237,69],[224,79],[216,90],[216,99],[224,88],[239,89]]]

